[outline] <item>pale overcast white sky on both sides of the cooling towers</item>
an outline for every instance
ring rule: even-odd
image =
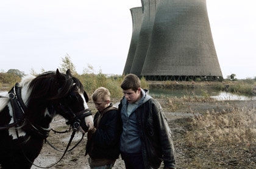
[[[207,0],[224,78],[256,77],[254,0]],[[132,36],[130,8],[140,0],[8,0],[0,2],[0,71],[55,71],[67,54],[82,74],[123,73]]]

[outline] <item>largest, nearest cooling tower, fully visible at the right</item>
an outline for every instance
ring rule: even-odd
[[[205,0],[158,2],[141,75],[148,80],[222,78]]]

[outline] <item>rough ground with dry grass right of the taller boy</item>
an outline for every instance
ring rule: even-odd
[[[255,102],[218,101],[207,94],[157,99],[172,126],[177,168],[256,167]],[[176,113],[189,112],[192,117],[175,120]]]

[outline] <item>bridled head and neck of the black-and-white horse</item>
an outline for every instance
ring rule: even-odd
[[[30,119],[34,119],[35,123],[47,127],[53,116],[60,114],[73,128],[77,129],[81,125],[86,132],[87,126],[93,126],[93,117],[90,116],[91,112],[87,105],[88,95],[80,80],[73,77],[69,69],[66,74],[62,74],[57,69],[56,72],[38,75],[31,81],[29,88],[31,92],[28,109],[35,110],[42,107],[44,111],[41,113],[44,114],[41,120],[38,119],[40,117],[35,118],[36,115],[30,113]]]

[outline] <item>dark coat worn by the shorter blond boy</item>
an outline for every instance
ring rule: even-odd
[[[112,109],[104,112],[97,126],[99,116],[101,116],[101,112],[96,112],[93,119],[96,132],[88,133],[86,154],[89,154],[92,159],[117,159],[121,128],[118,110]]]

